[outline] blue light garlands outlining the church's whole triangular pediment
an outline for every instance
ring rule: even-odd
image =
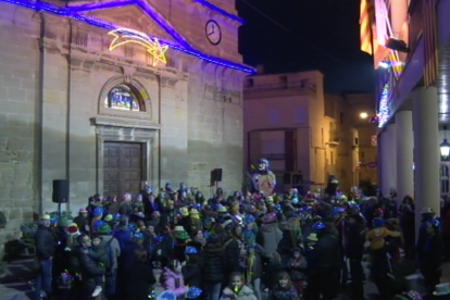
[[[8,2],[8,3],[12,3],[12,4],[16,4],[23,8],[27,8],[27,9],[32,9],[35,11],[46,11],[52,14],[57,14],[60,16],[65,16],[65,17],[71,17],[74,20],[77,20],[79,22],[96,26],[96,27],[100,27],[100,28],[104,28],[108,30],[112,30],[112,29],[117,29],[121,28],[121,26],[116,26],[112,23],[105,22],[101,18],[98,17],[93,17],[93,16],[87,16],[87,15],[83,15],[78,12],[82,11],[90,11],[90,10],[96,10],[99,9],[100,7],[102,9],[105,8],[113,8],[113,7],[120,7],[118,4],[116,4],[117,0],[115,1],[111,1],[107,3],[95,3],[95,4],[83,4],[83,5],[77,5],[77,7],[66,7],[66,8],[61,8],[61,7],[57,7],[57,5],[52,5],[46,2],[35,2],[35,1],[29,1],[29,0],[0,0],[1,2]],[[196,0],[198,1],[198,0]],[[167,41],[167,40],[162,40],[161,38],[160,41],[164,45],[167,45],[170,48],[178,50],[178,51],[183,51],[187,54],[197,57],[201,60],[217,64],[217,65],[222,65],[225,67],[229,67],[229,68],[234,68],[234,70],[238,70],[245,73],[254,73],[254,70],[242,65],[242,64],[238,64],[238,63],[233,63],[229,62],[227,60],[223,60],[223,59],[218,59],[215,57],[211,57],[205,53],[202,53],[198,50],[195,50],[192,47],[190,47],[182,36],[179,36],[173,28],[171,28],[171,26],[168,24],[165,23],[164,18],[162,18],[159,14],[157,14],[154,11],[152,11],[147,3],[145,3],[142,0],[122,0],[120,1],[122,5],[129,5],[133,3],[137,4],[140,9],[142,9],[150,17],[152,17],[161,27],[163,27],[163,29],[165,29],[172,37],[175,38],[175,40],[177,41],[177,43]],[[157,37],[154,37],[157,38]]]

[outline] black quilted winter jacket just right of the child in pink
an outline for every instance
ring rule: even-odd
[[[222,247],[217,245],[207,245],[201,254],[201,271],[203,282],[223,283],[225,279],[225,255]]]

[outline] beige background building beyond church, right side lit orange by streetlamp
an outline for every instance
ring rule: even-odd
[[[328,175],[343,191],[359,184],[353,110],[346,99],[324,93],[323,77],[312,71],[245,79],[246,165],[266,158],[279,190],[323,188]]]

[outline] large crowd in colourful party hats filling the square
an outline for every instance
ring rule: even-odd
[[[362,300],[364,259],[380,299],[417,300],[392,267],[403,248],[428,291],[439,284],[440,222],[429,209],[422,215],[415,245],[411,197],[397,205],[358,188],[268,197],[224,197],[218,188],[205,199],[167,184],[118,201],[93,196],[72,221],[41,216],[36,300],[51,299],[61,284],[73,299],[171,299],[157,295],[161,284],[173,300],[332,300],[340,292]]]

